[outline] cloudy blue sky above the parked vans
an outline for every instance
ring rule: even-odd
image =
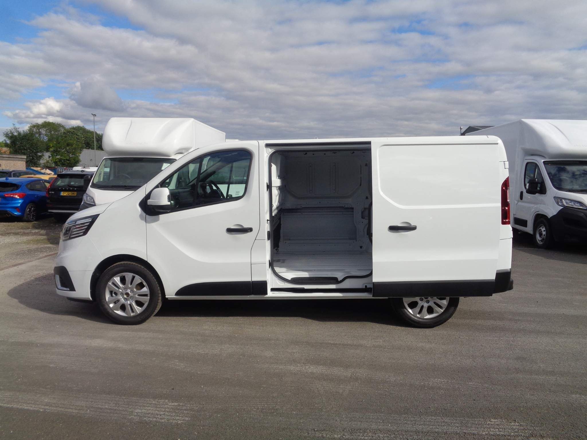
[[[585,119],[587,3],[5,2],[0,130],[194,117],[236,138]]]

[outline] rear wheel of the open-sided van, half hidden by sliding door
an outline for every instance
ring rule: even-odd
[[[420,296],[391,300],[393,309],[402,321],[422,329],[446,323],[458,307],[458,298],[449,297]]]

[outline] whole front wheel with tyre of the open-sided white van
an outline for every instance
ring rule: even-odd
[[[96,284],[100,310],[117,324],[141,324],[161,307],[161,286],[153,273],[133,262],[104,270]]]

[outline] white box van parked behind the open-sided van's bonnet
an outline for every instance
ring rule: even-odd
[[[222,131],[191,118],[111,118],[102,138],[107,155],[80,210],[122,199],[188,151],[225,138]]]

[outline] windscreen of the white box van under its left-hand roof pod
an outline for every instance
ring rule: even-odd
[[[155,157],[106,158],[96,171],[92,187],[134,191],[174,161]]]

